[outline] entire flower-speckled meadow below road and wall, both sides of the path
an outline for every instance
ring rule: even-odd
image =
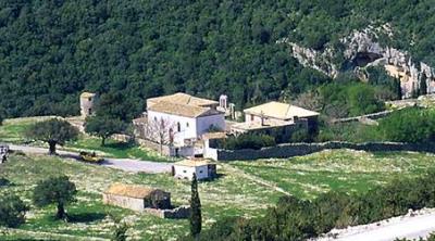
[[[226,216],[261,216],[283,195],[274,186],[308,199],[328,190],[364,192],[398,176],[418,176],[434,166],[434,157],[424,153],[378,154],[338,150],[289,160],[221,164],[217,167],[222,175],[219,179],[199,185],[203,224],[207,228]],[[188,232],[187,220],[160,219],[101,203],[101,192],[110,183],[122,181],[164,189],[172,193],[175,204],[187,204],[189,182],[166,174],[128,174],[72,160],[13,155],[0,170],[0,177],[7,177],[13,185],[1,188],[0,193],[16,193],[30,204],[36,182],[59,174],[69,175],[79,190],[78,202],[67,207],[73,221],[53,220],[53,207],[32,207],[27,223],[20,229],[10,230],[9,234],[0,237],[1,240],[23,237],[107,239],[113,227],[108,214],[124,217],[132,225],[128,234],[135,240],[174,240]]]

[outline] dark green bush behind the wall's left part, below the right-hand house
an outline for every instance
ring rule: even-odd
[[[241,150],[241,149],[253,149],[259,150],[264,147],[275,145],[275,138],[268,135],[252,135],[244,134],[237,137],[229,137],[221,143],[221,148],[227,150]]]

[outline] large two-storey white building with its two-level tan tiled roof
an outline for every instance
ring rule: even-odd
[[[225,113],[216,110],[217,101],[186,93],[147,100],[148,123],[164,123],[174,145],[197,141],[211,128],[225,129]]]

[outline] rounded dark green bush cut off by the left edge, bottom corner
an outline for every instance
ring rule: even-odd
[[[28,206],[16,195],[0,198],[0,226],[16,228],[24,224]]]

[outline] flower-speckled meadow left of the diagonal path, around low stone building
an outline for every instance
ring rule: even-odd
[[[211,225],[214,220],[243,215],[253,217],[275,203],[281,195],[269,188],[258,186],[244,179],[237,173],[224,167],[219,168],[222,177],[212,182],[199,185],[203,206],[203,224]],[[49,233],[71,234],[74,238],[51,234],[54,239],[76,240],[78,238],[109,238],[113,223],[107,214],[124,217],[132,225],[129,236],[135,240],[173,240],[188,232],[187,220],[160,219],[147,214],[134,213],[127,210],[107,206],[101,203],[101,192],[112,182],[139,183],[170,191],[174,204],[188,204],[190,182],[176,180],[170,175],[128,174],[109,167],[84,164],[72,160],[60,160],[48,156],[11,156],[10,162],[2,164],[0,177],[12,181],[12,186],[0,188],[0,194],[13,192],[30,204],[32,190],[38,180],[48,176],[65,174],[77,185],[78,202],[67,207],[73,223],[53,220],[54,207],[32,207],[27,223],[18,230],[3,238],[35,237],[33,232],[41,232],[38,237]],[[23,233],[24,232],[24,233]],[[0,230],[2,233],[2,230]]]

